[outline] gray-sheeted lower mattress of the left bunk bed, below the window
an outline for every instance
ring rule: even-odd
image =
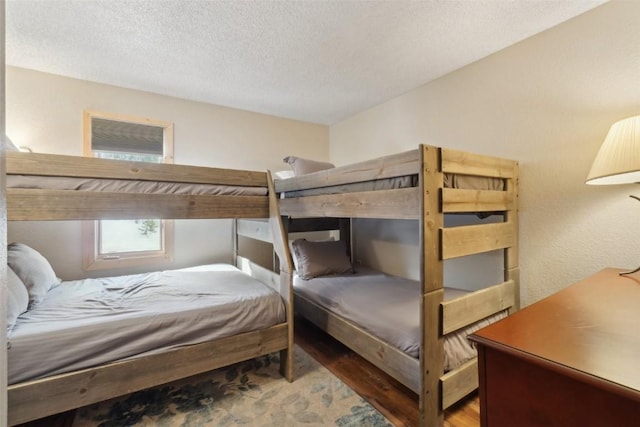
[[[9,384],[285,321],[280,295],[226,264],[63,281],[8,335]]]

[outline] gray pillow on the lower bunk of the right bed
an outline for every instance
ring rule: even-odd
[[[297,239],[291,243],[297,260],[298,276],[305,280],[328,274],[353,273],[343,240],[310,242]]]

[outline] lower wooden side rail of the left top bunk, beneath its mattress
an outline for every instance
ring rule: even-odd
[[[7,189],[7,219],[266,218],[266,196],[199,196]]]

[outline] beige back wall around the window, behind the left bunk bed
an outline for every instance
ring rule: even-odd
[[[286,155],[328,158],[326,126],[7,68],[7,134],[16,145],[81,155],[85,109],[174,123],[175,163],[282,170]],[[8,237],[40,250],[64,279],[136,271],[84,272],[78,222],[10,223]],[[230,220],[183,220],[174,262],[162,268],[230,260]]]

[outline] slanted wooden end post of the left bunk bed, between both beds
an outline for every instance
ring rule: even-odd
[[[269,189],[269,225],[273,236],[273,249],[280,259],[280,295],[285,303],[288,325],[288,346],[280,351],[280,372],[288,380],[293,381],[295,366],[293,364],[293,260],[289,253],[287,234],[285,233],[280,206],[276,195],[271,172],[267,171]]]

